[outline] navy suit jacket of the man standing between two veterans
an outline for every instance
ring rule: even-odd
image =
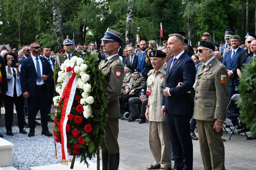
[[[173,57],[174,58],[174,57]],[[169,114],[191,114],[190,91],[195,82],[195,63],[185,52],[176,60],[170,70],[171,58],[166,67],[166,79],[164,88],[169,87],[171,96],[163,95],[162,106]],[[179,82],[183,82],[180,87],[176,87]]]

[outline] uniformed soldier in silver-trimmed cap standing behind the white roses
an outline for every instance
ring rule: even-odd
[[[60,71],[61,64],[64,63],[66,59],[70,59],[72,57],[73,54],[71,49],[69,49],[70,47],[73,48],[72,41],[67,36],[67,38],[63,41],[63,49],[65,50],[65,53],[56,56],[55,63],[54,63],[55,65],[54,70],[56,70],[56,66],[58,66],[57,67],[58,71]],[[58,80],[58,74],[54,74],[55,86],[58,83],[57,80]]]

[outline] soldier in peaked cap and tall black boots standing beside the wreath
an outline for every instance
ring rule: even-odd
[[[119,167],[119,145],[118,138],[118,118],[120,108],[118,96],[124,79],[124,65],[118,55],[118,49],[124,40],[123,35],[113,29],[107,28],[103,38],[103,52],[107,54],[106,60],[100,62],[99,69],[105,76],[103,83],[106,85],[108,107],[105,109],[107,114],[107,125],[105,127],[106,137],[101,146],[102,151],[102,170],[117,170]]]

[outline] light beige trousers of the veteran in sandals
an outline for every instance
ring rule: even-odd
[[[149,121],[149,147],[154,165],[171,167],[171,139],[166,121]]]

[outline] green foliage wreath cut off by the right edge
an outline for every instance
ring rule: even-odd
[[[242,69],[239,85],[236,90],[240,92],[242,102],[237,102],[241,108],[241,121],[250,128],[252,136],[256,135],[256,58],[252,58],[251,62],[246,65],[246,69]]]

